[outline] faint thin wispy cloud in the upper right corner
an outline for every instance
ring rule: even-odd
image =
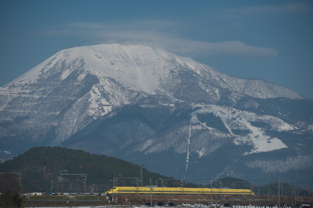
[[[279,5],[256,5],[240,8],[227,9],[227,13],[246,13],[246,14],[292,14],[311,10],[307,3],[287,3]]]

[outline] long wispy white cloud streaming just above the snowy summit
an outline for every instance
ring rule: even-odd
[[[220,43],[194,41],[182,39],[172,33],[156,31],[164,30],[164,28],[171,28],[171,24],[174,23],[163,21],[144,21],[140,23],[127,24],[127,26],[110,26],[99,23],[72,23],[67,27],[67,29],[49,31],[45,34],[71,37],[77,36],[85,38],[85,40],[89,42],[92,40],[93,44],[144,44],[150,47],[164,48],[169,52],[188,57],[196,57],[199,54],[201,54],[201,56],[211,54],[229,54],[267,58],[277,56],[275,48],[247,45],[240,41],[224,41]]]

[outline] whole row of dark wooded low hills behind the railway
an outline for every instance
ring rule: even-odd
[[[61,147],[33,147],[23,154],[14,157],[12,160],[0,164],[1,174],[0,192],[5,193],[6,185],[8,189],[14,189],[14,193],[19,192],[20,172],[22,173],[21,188],[23,191],[41,191],[50,194],[51,183],[53,193],[58,190],[60,173],[77,174],[62,175],[62,192],[64,193],[83,193],[85,190],[84,179],[86,177],[86,193],[105,192],[113,186],[114,178],[117,177],[117,186],[136,186],[136,178],[140,178],[140,166],[124,160],[107,157],[105,155],[95,155],[83,150],[73,150]],[[167,177],[158,173],[149,172],[143,168],[143,185],[151,184],[161,186],[162,179],[165,180],[163,185],[168,187],[181,186],[180,180],[174,180],[173,177]],[[5,180],[4,180],[5,179]],[[115,178],[116,179],[116,178]],[[5,183],[5,181],[8,181]],[[211,188],[211,181],[205,180],[203,183],[194,184],[186,181],[184,187],[201,187],[202,185]],[[239,178],[225,177],[213,179],[213,187],[222,187],[251,189],[251,183]],[[290,195],[287,183],[283,195]],[[60,185],[61,187],[61,185]],[[265,189],[264,189],[265,188]],[[277,182],[269,183],[265,187],[255,186],[253,183],[252,190],[255,194],[269,194],[278,192]],[[299,195],[308,195],[307,190],[298,189]]]

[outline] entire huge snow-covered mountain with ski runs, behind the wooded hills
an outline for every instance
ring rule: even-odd
[[[158,170],[152,158],[171,152],[180,161],[176,171],[193,178],[198,175],[188,166],[206,164],[202,160],[225,145],[249,158],[294,148],[282,132],[312,138],[313,129],[311,100],[290,89],[142,45],[62,50],[0,88],[0,103],[2,158],[32,146],[64,145]],[[295,113],[288,103],[304,109]],[[224,166],[216,175],[229,175]]]

